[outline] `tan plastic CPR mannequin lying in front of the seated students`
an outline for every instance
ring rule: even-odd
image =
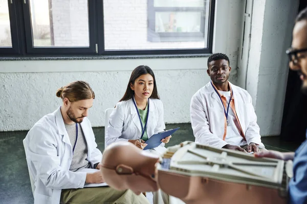
[[[221,179],[221,177],[217,177],[214,172],[212,174],[209,172],[208,175],[204,176],[204,174],[198,173],[197,171],[189,171],[188,168],[183,170],[184,168],[176,167],[176,165],[174,165],[174,168],[168,168],[170,166],[169,163],[176,163],[174,154],[179,152],[179,149],[181,150],[179,154],[182,155],[191,151],[188,147],[194,148],[195,145],[196,144],[193,142],[183,142],[180,145],[169,147],[168,151],[163,155],[163,158],[159,158],[128,142],[114,143],[109,145],[103,152],[101,171],[105,182],[115,189],[131,189],[136,194],[140,194],[144,191],[157,191],[160,188],[165,193],[178,197],[187,204],[246,202],[249,204],[287,203],[287,191],[285,190],[287,184],[281,184],[287,183],[286,180],[283,180],[286,182],[280,181],[280,184],[275,185],[272,182],[266,181],[266,177],[262,177],[259,179],[262,181],[261,185],[259,185],[255,183],[253,176],[251,176],[251,179],[247,178],[245,182],[242,180],[242,176],[237,176],[236,173],[232,176],[225,173],[227,176],[224,177],[222,174],[221,177],[223,177],[223,179]],[[207,147],[204,145],[199,146],[199,148]],[[216,148],[213,148],[213,150],[214,149],[216,150]],[[237,153],[231,150],[223,149],[218,151],[226,151],[226,155],[228,154],[232,159],[235,159],[236,156],[247,157],[243,155],[243,153]],[[203,158],[203,161],[205,161],[203,162],[204,164],[212,164],[212,169],[220,173],[219,171],[223,171],[223,165],[232,165],[232,163],[227,163],[227,161],[223,159],[223,155],[225,156],[223,152],[221,154],[222,157],[213,157],[213,160],[206,158],[204,155],[198,156]],[[195,154],[197,155],[197,152]],[[282,168],[281,171],[283,172],[283,161],[267,160],[263,158],[257,160],[251,156],[248,157],[258,166],[276,164],[278,168]],[[204,158],[206,158],[206,160],[204,160]],[[264,161],[269,162],[267,164]],[[184,164],[187,167],[195,165],[195,163],[189,160],[181,161],[180,164]],[[196,164],[202,164],[202,162],[196,162]],[[286,165],[284,166],[286,167]],[[239,169],[239,167],[233,168]],[[287,169],[291,169],[291,166]],[[275,174],[278,174],[277,170],[275,170],[272,177],[278,177],[275,176]],[[250,171],[247,171],[247,173],[253,174]],[[288,174],[291,174],[291,172]],[[279,177],[285,176],[280,175]],[[289,175],[286,177],[289,177]],[[285,188],[283,188],[283,186],[285,186]]]

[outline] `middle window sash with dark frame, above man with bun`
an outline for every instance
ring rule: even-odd
[[[25,34],[29,54],[96,53],[95,24],[91,23],[95,19],[94,1],[24,1]]]

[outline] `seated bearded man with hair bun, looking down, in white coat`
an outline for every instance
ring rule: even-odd
[[[76,81],[56,95],[62,105],[36,122],[24,140],[34,203],[149,203],[130,190],[83,188],[104,182],[98,170],[102,154],[87,119],[95,94],[88,83]]]

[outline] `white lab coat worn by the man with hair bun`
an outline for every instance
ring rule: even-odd
[[[97,149],[91,123],[86,117],[80,123],[87,143],[87,160],[93,167],[102,159]],[[60,107],[42,117],[28,132],[26,158],[34,178],[35,204],[58,204],[62,189],[83,188],[85,172],[70,171],[72,145],[65,129]]]

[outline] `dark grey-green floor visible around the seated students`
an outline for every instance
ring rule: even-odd
[[[166,145],[172,146],[182,141],[194,141],[190,123],[167,124],[166,129],[180,127]],[[104,127],[93,129],[98,148],[104,149]],[[0,203],[33,203],[23,139],[27,131],[0,132]],[[294,151],[299,144],[282,142],[278,137],[262,137],[267,149]]]

